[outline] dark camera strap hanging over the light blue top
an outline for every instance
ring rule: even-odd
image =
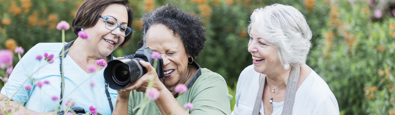
[[[73,41],[71,41],[71,42],[69,42],[69,43],[67,43],[64,47],[63,47],[63,49],[62,49],[62,51],[66,51],[67,49],[69,49],[70,47],[71,47],[71,44],[73,44],[73,42],[74,42],[75,40],[73,40]],[[59,55],[61,55],[62,54],[62,51],[60,51],[60,53],[59,53]],[[68,53],[68,51],[66,51],[66,52],[64,52],[64,57],[63,58],[66,58],[66,55],[67,55],[67,53]],[[59,110],[60,110],[60,106],[62,106],[62,99],[63,99],[63,94],[64,94],[64,76],[62,75],[62,72],[63,72],[63,59],[61,56],[59,57],[59,59],[60,59],[60,75],[62,76],[62,82],[61,82],[61,84],[60,84],[60,102],[59,102]],[[109,55],[109,59],[108,59],[108,61],[111,61],[111,60],[113,60],[113,54],[112,53],[110,53],[110,55]],[[108,83],[106,82],[106,81],[104,81],[105,82],[105,94],[107,95],[107,99],[108,99],[108,103],[109,103],[109,105],[110,105],[110,108],[111,108],[111,113],[113,113],[113,110],[114,110],[114,108],[113,108],[113,102],[111,102],[111,97],[110,97],[110,93],[108,92]]]

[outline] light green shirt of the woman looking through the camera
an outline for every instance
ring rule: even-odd
[[[129,115],[136,115],[143,103],[144,92],[133,90],[129,98]],[[218,73],[202,68],[201,75],[184,94],[177,97],[183,107],[190,102],[194,109],[189,110],[191,115],[230,115],[230,100],[228,86],[224,78]],[[143,115],[162,115],[154,100],[150,100],[143,110]]]

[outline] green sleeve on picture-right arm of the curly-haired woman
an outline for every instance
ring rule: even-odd
[[[196,91],[192,99],[194,109],[190,111],[191,115],[230,115],[232,96],[229,95],[228,86],[221,77],[203,82]]]

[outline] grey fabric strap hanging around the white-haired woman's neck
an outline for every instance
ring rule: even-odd
[[[297,84],[300,77],[300,67],[291,68],[290,77],[288,78],[287,89],[285,93],[284,106],[282,109],[282,115],[292,115],[293,103],[295,101],[295,94],[297,89]],[[259,85],[258,94],[256,95],[254,110],[252,110],[252,115],[259,115],[259,110],[261,108],[261,100],[263,95],[263,88],[265,87],[266,75],[263,75],[261,84]]]

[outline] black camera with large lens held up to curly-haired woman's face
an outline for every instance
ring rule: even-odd
[[[141,66],[140,60],[149,62],[154,66],[151,58],[152,50],[149,47],[141,47],[134,55],[124,55],[124,58],[111,60],[104,69],[104,79],[111,89],[120,90],[133,85],[140,77],[147,73],[147,69]],[[156,73],[159,78],[164,78],[163,59],[159,58],[156,63]]]

